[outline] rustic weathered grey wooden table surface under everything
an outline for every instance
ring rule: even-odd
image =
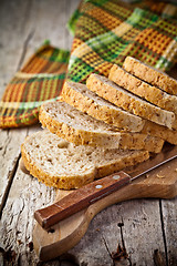
[[[0,8],[0,93],[45,39],[70,49],[66,21],[79,0],[11,0]],[[33,250],[35,209],[49,205],[55,190],[19,168],[20,144],[40,125],[0,131],[0,265],[177,265],[177,198],[134,200],[108,207],[90,224],[67,256],[39,263]],[[128,259],[111,253],[125,245]],[[70,255],[70,256],[69,256]]]

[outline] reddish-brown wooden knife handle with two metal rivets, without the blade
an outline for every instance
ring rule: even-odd
[[[75,190],[49,207],[35,211],[34,218],[44,229],[49,229],[52,225],[119,190],[129,182],[131,176],[123,171],[108,175]]]

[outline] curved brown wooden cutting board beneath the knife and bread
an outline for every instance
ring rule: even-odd
[[[71,192],[59,190],[56,201],[69,193]],[[177,158],[100,200],[90,207],[61,221],[50,232],[44,231],[37,223],[33,231],[34,249],[41,260],[52,259],[75,246],[86,233],[91,219],[105,207],[133,198],[173,198],[176,195]]]

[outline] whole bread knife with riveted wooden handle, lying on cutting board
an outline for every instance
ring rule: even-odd
[[[177,146],[166,144],[162,152],[152,155],[149,160],[119,171],[101,180],[94,181],[63,197],[61,201],[34,212],[34,218],[44,228],[49,229],[52,225],[67,218],[101,198],[118,191],[121,187],[139,178],[149,171],[177,157]]]

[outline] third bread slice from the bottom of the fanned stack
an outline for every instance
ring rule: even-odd
[[[177,131],[124,112],[122,109],[90,91],[84,84],[65,82],[62,90],[62,98],[63,101],[77,110],[97,120],[103,120],[107,124],[122,127],[122,131],[140,132],[160,137],[171,144],[177,144]]]

